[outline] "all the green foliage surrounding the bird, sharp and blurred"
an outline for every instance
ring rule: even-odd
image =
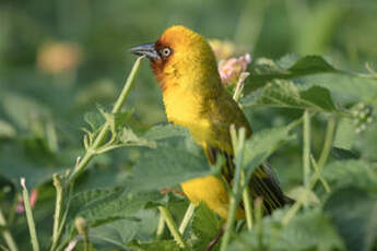
[[[51,250],[204,250],[219,234],[224,220],[205,204],[181,235],[184,249],[158,220],[164,206],[179,226],[188,206],[179,183],[219,175],[221,162],[210,166],[186,129],[166,123],[150,71],[134,73],[132,93],[110,107],[133,60],[125,48],[173,23],[251,47],[239,104],[255,133],[241,166],[249,177],[268,160],[296,200],[264,217],[255,206],[252,228],[239,220],[226,250],[377,249],[377,74],[373,63],[364,69],[377,58],[375,1],[44,3],[0,3],[0,249],[15,250],[13,239],[19,250],[32,250],[21,177],[37,191],[31,206],[40,250],[51,240]],[[64,68],[54,60],[46,68],[46,47],[67,59]],[[286,51],[308,56],[281,57]]]

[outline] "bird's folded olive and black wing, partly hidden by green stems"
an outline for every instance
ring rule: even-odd
[[[222,175],[226,182],[232,186],[235,166],[229,127],[233,123],[237,129],[246,128],[248,136],[251,135],[251,128],[244,112],[232,98],[224,98],[217,101],[219,104],[221,105],[213,106],[214,109],[211,109],[212,136],[203,144],[203,148],[209,162],[212,164],[216,162],[219,155],[225,157],[226,162]],[[255,170],[249,188],[252,198],[261,196],[263,199],[266,213],[271,213],[274,208],[282,207],[285,204],[279,181],[266,164]]]

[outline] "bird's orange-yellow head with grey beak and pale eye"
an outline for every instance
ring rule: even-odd
[[[152,44],[131,52],[146,56],[163,89],[169,85],[197,88],[202,83],[220,83],[217,64],[208,41],[185,26],[172,26]],[[202,87],[202,86],[201,86]]]

